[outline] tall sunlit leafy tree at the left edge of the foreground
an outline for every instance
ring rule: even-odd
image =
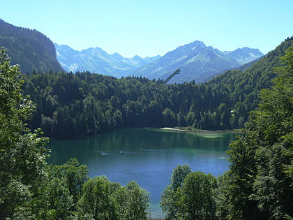
[[[27,129],[24,120],[34,110],[22,98],[18,66],[10,66],[6,51],[0,50],[0,218],[11,217],[29,198],[34,180],[45,166],[47,138]]]

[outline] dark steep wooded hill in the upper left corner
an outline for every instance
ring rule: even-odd
[[[20,64],[22,73],[63,71],[52,41],[34,29],[15,27],[0,20],[0,47],[6,47],[10,64]]]

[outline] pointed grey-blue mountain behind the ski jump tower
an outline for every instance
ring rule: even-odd
[[[211,76],[223,73],[230,68],[236,68],[264,54],[257,49],[248,47],[239,48],[232,52],[221,52],[211,46],[206,47],[202,41],[194,41],[167,52],[163,57],[145,66],[137,68],[133,75],[142,75],[147,78],[167,78],[180,68],[181,73],[175,75],[170,83],[204,82]]]

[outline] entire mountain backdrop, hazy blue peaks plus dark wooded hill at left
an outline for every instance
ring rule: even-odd
[[[108,54],[99,47],[77,51],[68,45],[53,44],[50,38],[36,30],[15,27],[0,20],[0,46],[6,47],[11,64],[20,64],[22,73],[33,71],[89,71],[103,75],[143,76],[165,80],[176,69],[169,83],[205,82],[231,68],[263,56],[262,52],[249,47],[232,52],[221,52],[202,41],[194,41],[167,52],[163,57],[126,58],[118,53]],[[246,64],[247,66],[248,64]],[[250,66],[250,65],[248,65]],[[62,68],[63,67],[63,68]]]

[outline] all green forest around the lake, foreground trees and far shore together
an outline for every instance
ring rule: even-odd
[[[91,73],[20,75],[0,50],[0,219],[148,219],[149,193],[135,182],[89,178],[76,159],[48,166],[48,138],[35,128],[72,138],[77,131],[82,137],[151,123],[243,127],[230,144],[227,173],[173,170],[160,202],[167,219],[292,219],[292,86],[289,38],[247,71],[201,85]]]

